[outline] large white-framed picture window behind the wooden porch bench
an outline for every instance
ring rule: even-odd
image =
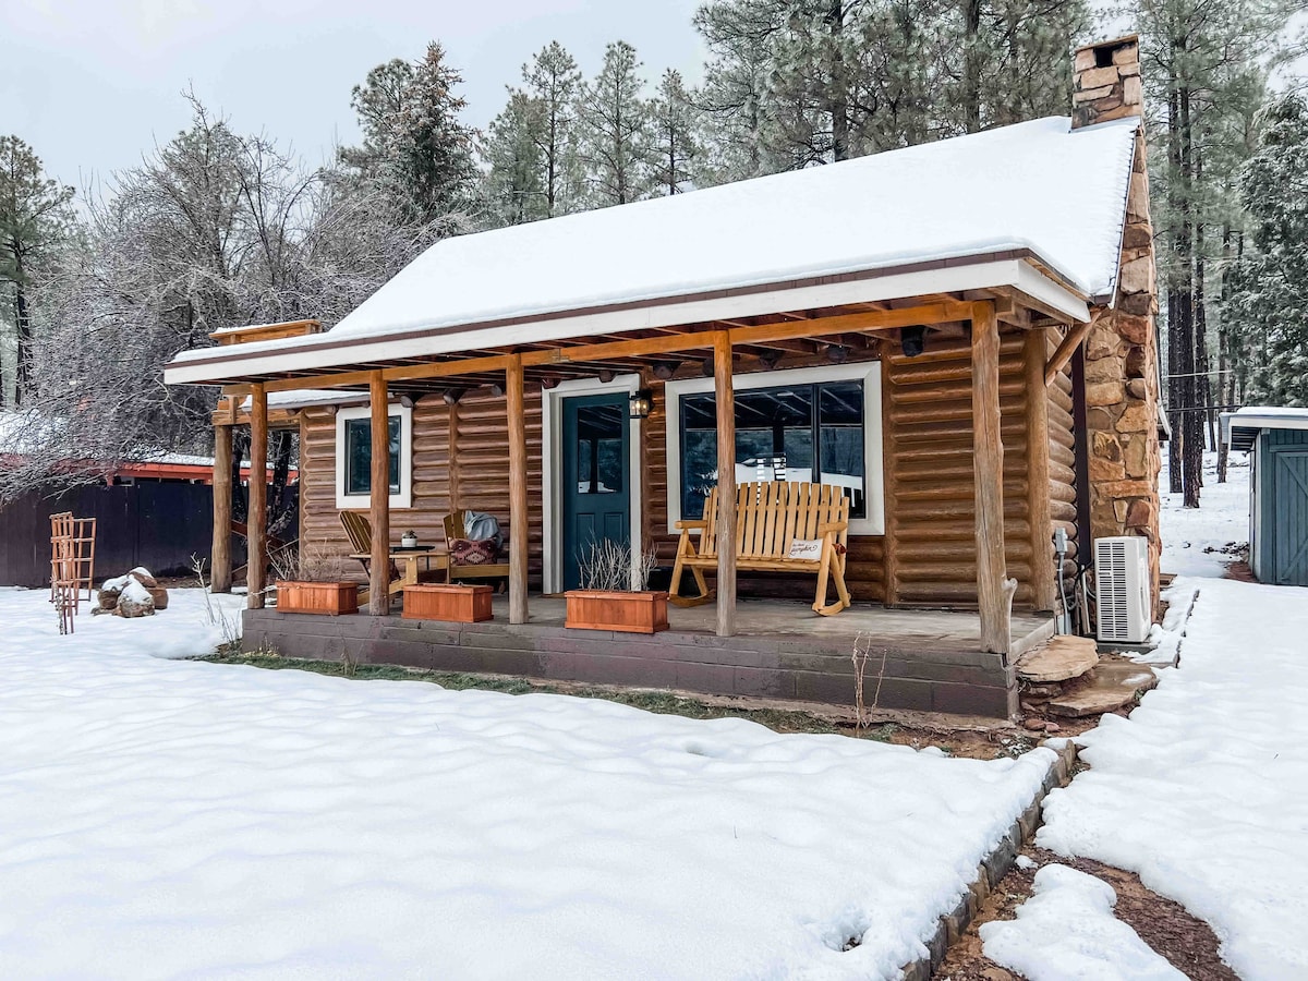
[[[883,534],[878,371],[863,364],[736,375],[736,483],[832,484],[850,498],[852,531]],[[668,510],[698,518],[718,481],[712,381],[668,385]]]

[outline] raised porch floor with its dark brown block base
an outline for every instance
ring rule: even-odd
[[[739,600],[734,637],[715,634],[712,604],[668,608],[655,634],[564,627],[561,596],[531,596],[528,623],[511,625],[508,598],[480,624],[391,616],[245,613],[245,646],[286,657],[351,659],[436,671],[522,675],[548,680],[663,688],[715,696],[852,706],[855,638],[870,642],[865,704],[1007,717],[1018,709],[1012,662],[1052,633],[1049,617],[1014,615],[1008,657],[980,650],[980,617],[943,610],[857,604],[833,617],[802,602]],[[886,653],[884,675],[882,653]]]

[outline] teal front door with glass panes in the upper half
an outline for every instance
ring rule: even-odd
[[[561,443],[562,573],[570,590],[582,585],[582,561],[593,543],[630,540],[628,394],[565,398]]]

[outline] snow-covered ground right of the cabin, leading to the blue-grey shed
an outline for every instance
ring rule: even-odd
[[[1167,555],[1247,540],[1245,488],[1210,483],[1199,510],[1167,508]],[[1046,799],[1037,844],[1138,872],[1214,927],[1241,977],[1305,978],[1308,591],[1190,576],[1172,598],[1196,591],[1180,666],[1129,719],[1078,736],[1091,769]]]

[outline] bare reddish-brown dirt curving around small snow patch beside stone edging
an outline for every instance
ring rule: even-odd
[[[1113,869],[1088,858],[1065,859],[1053,852],[1028,846],[1022,854],[1039,865],[1062,863],[1095,875],[1117,891],[1117,918],[1129,923],[1141,939],[1167,957],[1177,971],[1196,981],[1239,981],[1218,956],[1218,938],[1211,927],[1185,912],[1179,903],[1146,889],[1133,872]],[[935,977],[950,981],[1007,981],[1016,978],[981,951],[977,927],[993,920],[1012,920],[1015,910],[1031,897],[1039,869],[1014,867],[982,904],[977,918],[959,938]]]

